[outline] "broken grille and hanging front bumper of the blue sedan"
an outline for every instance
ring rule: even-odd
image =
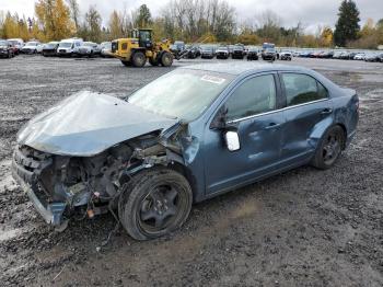
[[[46,162],[25,157],[19,149],[12,160],[12,176],[27,194],[38,214],[53,226],[62,223],[62,214],[67,207],[65,202],[44,200],[44,192],[38,187],[38,173]]]

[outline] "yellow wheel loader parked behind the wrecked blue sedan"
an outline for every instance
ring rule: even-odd
[[[126,67],[143,67],[147,60],[152,66],[170,67],[174,59],[170,46],[167,39],[154,43],[151,28],[135,28],[130,38],[112,42],[111,55],[120,59]]]

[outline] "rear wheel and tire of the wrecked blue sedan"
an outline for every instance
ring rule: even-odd
[[[341,154],[345,142],[344,129],[338,125],[329,127],[321,138],[311,164],[320,170],[332,168]]]

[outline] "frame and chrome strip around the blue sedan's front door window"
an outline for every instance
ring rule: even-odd
[[[262,116],[262,115],[265,115],[265,114],[276,113],[280,108],[282,108],[282,106],[280,106],[280,104],[281,104],[281,87],[280,87],[280,81],[278,79],[278,72],[277,71],[253,73],[253,74],[249,74],[249,76],[245,77],[235,87],[233,87],[233,89],[228,93],[228,95],[223,100],[222,105],[220,107],[222,107],[223,105],[227,104],[229,99],[234,94],[235,90],[241,84],[243,84],[244,82],[246,82],[246,81],[248,81],[251,79],[254,79],[254,78],[257,78],[257,77],[263,77],[263,76],[272,76],[272,79],[274,79],[274,85],[275,85],[275,91],[276,91],[276,105],[275,105],[274,110],[272,111],[268,111],[268,112],[264,112],[264,113],[259,113],[259,114],[255,114],[255,115],[249,115],[249,116],[245,116],[245,117],[231,119],[231,120],[228,120],[229,124],[231,124],[231,123],[240,123],[240,122],[247,120],[247,119],[251,119],[251,118],[254,118],[254,117],[258,117],[258,116]],[[219,110],[220,108],[218,108],[217,111],[219,111]]]

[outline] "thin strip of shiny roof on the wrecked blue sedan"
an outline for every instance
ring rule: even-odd
[[[270,64],[270,62],[237,62],[237,64],[227,64],[227,62],[218,62],[218,64],[197,64],[183,67],[184,69],[193,69],[193,70],[204,70],[204,71],[212,71],[212,72],[223,72],[239,76],[245,72],[264,72],[264,71],[310,71],[306,68],[300,66],[288,66],[280,64]]]

